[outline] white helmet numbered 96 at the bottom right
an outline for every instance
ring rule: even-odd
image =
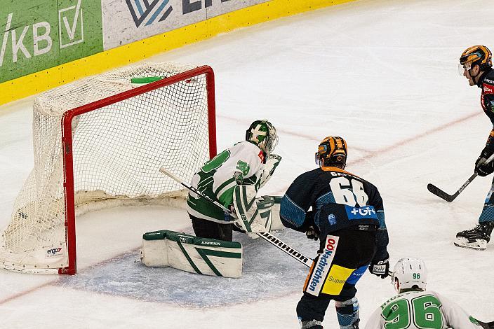
[[[401,258],[394,265],[391,281],[398,293],[407,289],[424,291],[427,285],[427,269],[424,261],[418,258]]]

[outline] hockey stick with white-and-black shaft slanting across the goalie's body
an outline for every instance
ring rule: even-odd
[[[225,207],[222,204],[220,204],[220,202],[211,199],[211,197],[208,197],[208,195],[204,195],[203,193],[201,193],[201,191],[197,190],[193,186],[189,186],[189,184],[184,183],[177,176],[175,176],[171,172],[168,172],[168,170],[166,170],[165,167],[161,167],[159,169],[159,172],[165,174],[166,176],[168,176],[171,179],[173,179],[173,181],[176,181],[177,183],[180,183],[180,185],[184,186],[188,190],[191,190],[193,193],[196,193],[196,195],[199,195],[199,197],[202,197],[203,199],[208,200],[208,202],[211,202],[216,207],[220,207],[220,209],[222,209],[223,211],[225,211],[225,213],[228,213],[230,216],[236,218],[236,214],[234,212],[232,212],[230,209],[228,209],[227,207]],[[265,239],[266,241],[268,241],[273,246],[276,246],[276,248],[279,248],[284,253],[288,253],[288,255],[291,255],[293,258],[295,258],[296,260],[298,260],[299,262],[301,262],[303,265],[305,265],[307,267],[311,267],[312,266],[312,262],[313,262],[313,259],[312,258],[308,258],[307,256],[303,255],[302,253],[300,253],[299,251],[295,250],[291,246],[288,246],[288,244],[286,244],[285,242],[281,241],[281,239],[275,237],[271,233],[269,233],[269,232],[262,232],[262,233],[260,233],[259,232],[259,233],[255,233],[255,234],[258,235],[258,236],[260,236],[260,237],[262,237],[262,239]]]

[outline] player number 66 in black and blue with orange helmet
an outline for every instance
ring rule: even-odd
[[[345,140],[326,137],[316,152],[319,168],[298,176],[281,200],[283,225],[321,240],[297,305],[304,329],[323,328],[331,300],[340,328],[359,328],[355,283],[367,268],[383,279],[389,272],[381,196],[373,184],[346,172],[346,162]]]

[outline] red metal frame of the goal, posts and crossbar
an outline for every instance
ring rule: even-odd
[[[76,274],[76,224],[75,224],[75,200],[74,200],[74,155],[72,153],[72,120],[81,114],[101,109],[125,99],[129,99],[145,92],[151,92],[161,87],[173,85],[181,80],[187,80],[194,76],[206,76],[206,92],[208,94],[208,134],[209,142],[209,157],[213,158],[216,155],[216,123],[215,123],[215,83],[214,72],[211,66],[199,66],[195,69],[178,73],[169,78],[163,78],[147,85],[136,87],[126,92],[121,92],[113,96],[101,99],[96,102],[91,102],[83,106],[76,107],[65,112],[62,116],[62,153],[63,153],[63,186],[65,194],[65,243],[67,244],[68,263],[67,267],[58,269],[58,274]]]

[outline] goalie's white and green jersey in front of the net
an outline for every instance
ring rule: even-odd
[[[258,190],[269,179],[272,173],[269,169],[274,169],[279,159],[276,158],[275,165],[265,165],[265,153],[255,144],[241,141],[206,162],[192,178],[191,185],[229,207],[235,186],[252,185]],[[225,223],[221,209],[212,207],[210,202],[192,192],[187,197],[187,211],[197,218]]]

